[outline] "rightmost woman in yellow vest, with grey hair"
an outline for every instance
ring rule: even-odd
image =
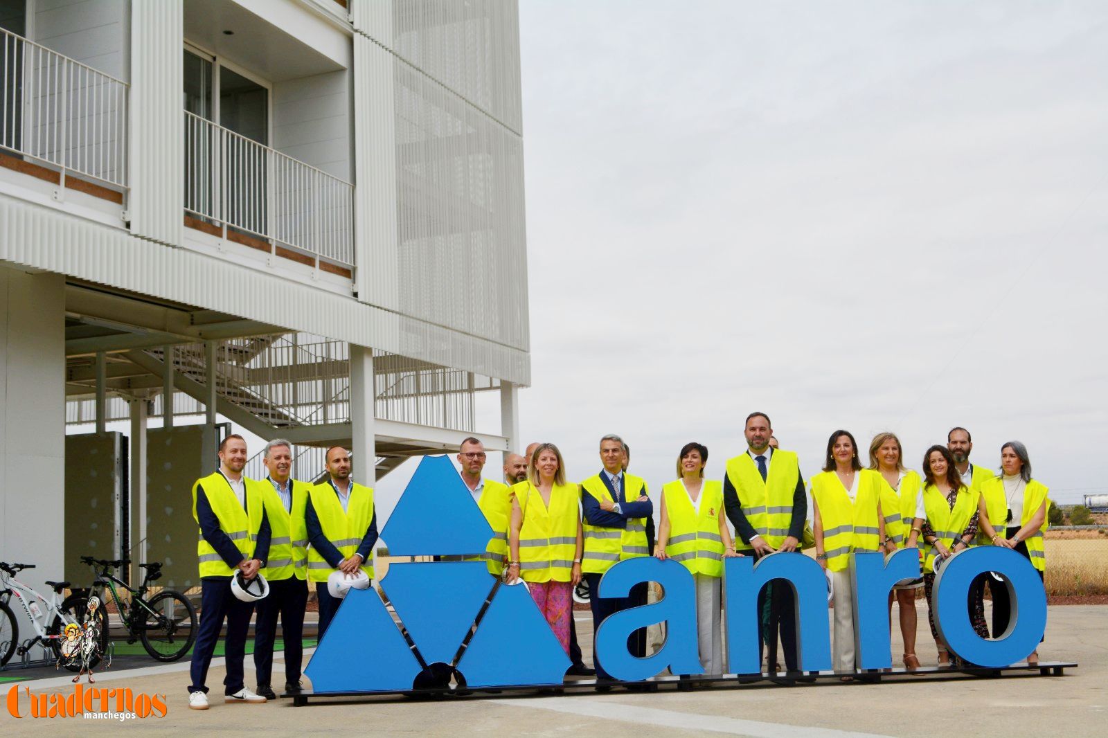
[[[977,503],[981,530],[994,546],[1006,546],[1022,553],[1042,580],[1046,571],[1043,532],[1047,529],[1049,490],[1032,479],[1027,447],[1019,441],[1008,441],[1001,447],[1001,470],[1003,473],[999,476],[985,481],[981,486],[981,502]],[[999,637],[998,634],[1008,627],[1012,599],[1005,586],[991,583],[989,590],[993,593],[993,635]],[[1027,657],[1027,663],[1038,664],[1037,648]]]

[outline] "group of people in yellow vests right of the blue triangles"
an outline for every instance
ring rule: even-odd
[[[504,473],[509,482],[515,483],[501,491],[507,498],[499,505],[502,512],[486,514],[494,531],[504,531],[506,517],[509,558],[503,562],[504,578],[509,584],[516,578],[527,583],[535,604],[567,653],[573,637],[572,587],[582,577],[592,592],[594,628],[612,613],[646,602],[645,584],[628,597],[597,596],[604,572],[634,556],[671,558],[694,575],[700,662],[705,673],[722,674],[724,560],[814,549],[814,557],[828,572],[834,592],[834,669],[848,681],[856,670],[850,568],[855,552],[892,554],[904,547],[920,551],[923,575],[897,583],[889,597],[890,616],[893,603],[899,605],[903,664],[909,670],[920,667],[915,598],[921,587],[927,599],[937,664],[952,663],[932,608],[935,574],[943,561],[972,545],[1001,545],[1023,554],[1043,576],[1043,531],[1050,501],[1047,488],[1032,476],[1027,449],[1018,441],[1002,447],[1001,472],[995,473],[970,461],[970,431],[953,428],[945,445],[927,449],[921,473],[905,467],[903,448],[894,433],[879,433],[870,442],[865,464],[864,451],[853,434],[837,430],[828,439],[820,472],[806,488],[797,454],[778,448],[766,413],[750,413],[743,432],[748,448],[728,460],[722,481],[704,478],[708,461],[704,444],[681,447],[677,479],[665,484],[657,499],[656,535],[654,500],[646,482],[627,472],[629,449],[618,435],[601,439],[603,470],[581,484],[566,481],[562,454],[552,443],[532,444],[525,459],[509,458]],[[479,448],[479,441],[469,439],[459,459],[483,460]],[[475,467],[466,471],[474,479],[480,473]],[[493,506],[486,501],[482,510]],[[499,571],[502,555],[490,547],[490,571]],[[968,614],[974,631],[988,638],[986,586],[993,598],[993,637],[1001,637],[1008,627],[1012,606],[1007,586],[998,575],[986,573],[974,581]],[[786,669],[798,672],[791,587],[771,582],[759,595],[758,612],[768,670],[780,668],[780,638]],[[642,631],[629,639],[628,648],[635,655],[645,655]],[[1036,663],[1037,652],[1027,660]],[[608,676],[595,657],[594,664],[598,677]]]

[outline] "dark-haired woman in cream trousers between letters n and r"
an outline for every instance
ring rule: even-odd
[[[885,523],[881,514],[881,475],[862,469],[858,444],[850,431],[837,430],[828,439],[823,471],[812,476],[812,532],[815,561],[834,582],[834,670],[854,672],[854,582],[851,560],[855,551],[881,550]],[[843,681],[853,677],[842,676]]]

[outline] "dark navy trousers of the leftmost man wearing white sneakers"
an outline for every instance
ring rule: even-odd
[[[193,647],[189,673],[193,679],[188,693],[207,693],[207,669],[212,655],[219,643],[219,631],[227,621],[227,639],[224,644],[227,656],[227,676],[224,677],[224,693],[234,695],[245,687],[243,684],[243,659],[246,657],[246,634],[250,629],[253,602],[243,602],[230,592],[230,577],[201,580],[201,624]]]

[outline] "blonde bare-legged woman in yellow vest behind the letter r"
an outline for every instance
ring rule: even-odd
[[[904,454],[895,433],[878,433],[870,442],[870,469],[881,474],[881,510],[885,521],[885,549],[915,549],[927,517],[923,509],[923,479],[919,472],[904,468]],[[889,593],[889,622],[892,623],[893,601],[900,611],[901,637],[904,640],[904,668],[920,668],[915,655],[915,595],[923,587],[923,577],[893,585]]]

